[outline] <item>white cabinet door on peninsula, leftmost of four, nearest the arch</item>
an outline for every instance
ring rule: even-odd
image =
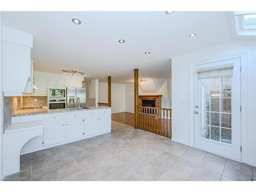
[[[45,124],[44,145],[60,143],[65,139],[65,123]]]

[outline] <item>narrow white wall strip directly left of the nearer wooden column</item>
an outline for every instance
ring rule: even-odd
[[[134,113],[134,83],[125,84],[125,112]]]

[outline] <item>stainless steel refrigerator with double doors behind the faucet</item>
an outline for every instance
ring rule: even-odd
[[[67,108],[75,108],[77,98],[80,100],[81,108],[86,107],[86,88],[67,87],[66,92]]]

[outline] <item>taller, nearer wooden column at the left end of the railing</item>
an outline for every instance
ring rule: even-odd
[[[134,69],[134,127],[138,128],[139,70]]]

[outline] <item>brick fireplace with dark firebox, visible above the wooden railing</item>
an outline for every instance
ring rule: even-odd
[[[153,101],[154,104],[153,104]],[[161,108],[162,95],[139,95],[139,106],[152,106],[155,108]]]

